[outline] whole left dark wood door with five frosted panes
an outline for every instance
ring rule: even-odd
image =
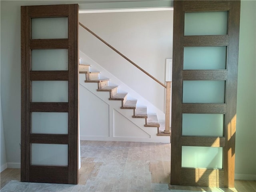
[[[78,5],[21,7],[21,181],[78,183]]]

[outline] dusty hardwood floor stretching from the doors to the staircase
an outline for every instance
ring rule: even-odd
[[[0,177],[2,191],[11,180],[20,180],[20,169],[7,168]],[[79,183],[70,191],[256,192],[256,181],[236,180],[235,188],[171,186],[169,182],[170,144],[81,141]],[[30,192],[26,187],[21,191]]]

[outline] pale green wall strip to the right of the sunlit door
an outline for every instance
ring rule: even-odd
[[[256,1],[241,1],[236,178],[256,180]]]

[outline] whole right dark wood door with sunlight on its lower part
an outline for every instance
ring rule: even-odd
[[[234,187],[240,1],[174,1],[171,184]]]

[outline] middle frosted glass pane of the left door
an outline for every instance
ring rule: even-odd
[[[32,102],[68,102],[68,81],[32,81]]]

